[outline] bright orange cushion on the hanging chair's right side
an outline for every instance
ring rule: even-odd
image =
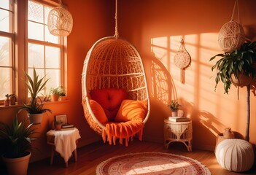
[[[115,117],[116,122],[143,121],[147,114],[147,101],[124,100]]]

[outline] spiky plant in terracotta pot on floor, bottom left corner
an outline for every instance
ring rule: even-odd
[[[18,122],[15,116],[12,125],[0,123],[0,138],[4,141],[4,154],[2,158],[7,166],[8,174],[27,174],[29,158],[31,156],[31,141],[36,138],[31,137],[35,133],[30,124]]]

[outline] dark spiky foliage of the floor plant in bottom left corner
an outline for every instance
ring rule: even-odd
[[[25,123],[26,120],[23,123],[18,123],[17,115],[11,126],[6,123],[0,123],[0,136],[4,139],[4,143],[7,144],[5,158],[21,158],[31,149],[31,141],[36,138],[30,136],[35,133],[35,129],[31,128],[33,124],[25,126]]]

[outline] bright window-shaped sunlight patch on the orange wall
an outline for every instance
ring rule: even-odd
[[[180,41],[184,39],[185,48],[191,57],[191,64],[185,69],[185,83],[182,84],[181,70],[174,64],[174,56],[179,50]],[[154,96],[163,103],[179,98],[182,103],[190,105],[194,117],[200,120],[209,131],[216,135],[220,127],[224,127],[216,116],[233,114],[231,109],[222,109],[226,98],[220,98],[222,91],[214,92],[215,74],[212,71],[214,63],[209,59],[220,52],[217,34],[191,34],[185,36],[162,36],[151,39],[151,51],[158,59],[158,72],[166,74],[163,78],[154,79]],[[156,63],[156,62],[155,62]],[[220,85],[221,86],[221,85]],[[176,93],[169,96],[169,93]],[[164,97],[166,96],[166,98]],[[185,106],[185,109],[187,106]],[[220,109],[222,109],[220,111]],[[196,111],[196,112],[195,112]],[[192,116],[193,117],[193,116]],[[199,121],[198,120],[198,121]]]

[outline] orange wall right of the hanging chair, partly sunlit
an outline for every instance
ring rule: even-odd
[[[237,136],[244,136],[246,88],[240,89],[239,101],[234,86],[229,95],[223,94],[222,83],[214,92],[214,62],[209,62],[209,58],[222,52],[217,37],[222,25],[230,21],[234,1],[120,0],[119,4],[120,36],[137,47],[147,65],[152,109],[144,137],[163,141],[163,120],[171,114],[166,104],[175,98],[193,120],[193,147],[214,149],[217,133],[227,127]],[[256,39],[255,7],[256,1],[239,1],[240,20],[252,41]],[[185,71],[185,84],[180,82],[180,70],[174,65],[181,37],[192,58]],[[256,144],[253,93],[250,99],[250,141]]]

